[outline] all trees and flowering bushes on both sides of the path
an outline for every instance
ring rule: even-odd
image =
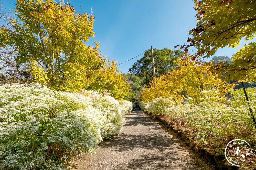
[[[150,49],[122,74],[100,44],[87,46],[93,14],[52,0],[16,0],[14,14],[1,6],[0,169],[65,169],[76,154],[119,135],[138,106],[184,125],[218,154],[236,138],[256,150],[255,42],[204,62],[255,39],[256,3],[194,2],[188,43],[153,49],[156,77]]]

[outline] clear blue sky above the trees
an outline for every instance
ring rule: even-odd
[[[3,0],[3,3],[4,6],[8,5],[8,0]],[[119,63],[143,53],[151,46],[173,49],[177,44],[182,45],[188,39],[188,31],[196,26],[193,0],[71,0],[70,4],[77,12],[93,12],[95,37],[86,44],[93,46],[95,39],[100,42],[102,55]],[[15,8],[15,1],[10,0],[10,7]],[[219,49],[214,56],[231,57],[242,45]],[[142,56],[121,64],[118,69],[127,73]]]

